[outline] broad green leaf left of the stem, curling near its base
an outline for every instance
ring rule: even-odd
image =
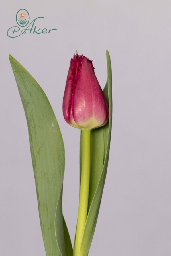
[[[71,256],[72,245],[62,215],[65,151],[60,128],[42,88],[17,60],[12,56],[9,59],[27,119],[46,255]]]

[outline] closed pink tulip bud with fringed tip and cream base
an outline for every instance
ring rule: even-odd
[[[63,115],[68,124],[79,129],[103,126],[109,107],[94,73],[92,61],[74,54],[66,80]]]

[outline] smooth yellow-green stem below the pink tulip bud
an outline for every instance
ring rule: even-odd
[[[90,181],[90,134],[91,130],[82,130],[82,170],[76,238],[74,244],[74,256],[79,255],[79,250],[84,232],[84,226],[86,224],[87,219]]]

